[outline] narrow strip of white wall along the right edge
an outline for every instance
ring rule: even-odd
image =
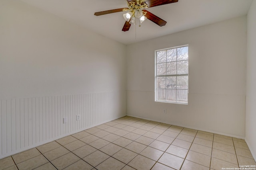
[[[256,0],[247,15],[247,76],[245,140],[256,160]]]

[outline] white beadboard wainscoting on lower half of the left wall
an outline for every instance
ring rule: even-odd
[[[125,91],[0,100],[0,158],[124,115]]]

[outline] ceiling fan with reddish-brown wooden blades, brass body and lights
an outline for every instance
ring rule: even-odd
[[[123,14],[124,20],[126,20],[126,22],[124,23],[122,31],[128,31],[131,25],[136,25],[136,19],[139,19],[141,24],[148,18],[148,20],[162,27],[166,24],[166,21],[162,20],[158,16],[155,16],[154,14],[148,12],[145,9],[154,6],[171,4],[174,2],[178,2],[178,0],[127,0],[128,8],[118,8],[114,10],[95,12],[94,15],[101,16],[115,12],[128,11],[126,14]]]

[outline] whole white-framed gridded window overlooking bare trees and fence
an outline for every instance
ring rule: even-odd
[[[155,100],[188,104],[188,46],[156,51]]]

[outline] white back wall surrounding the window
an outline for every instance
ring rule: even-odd
[[[186,44],[188,105],[154,102],[154,51]],[[244,138],[245,16],[128,45],[127,54],[128,115]]]

